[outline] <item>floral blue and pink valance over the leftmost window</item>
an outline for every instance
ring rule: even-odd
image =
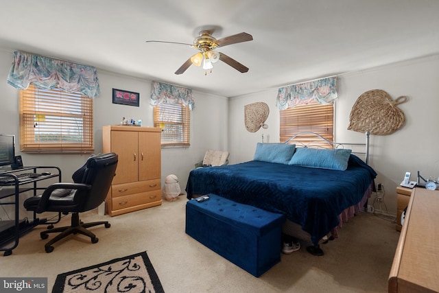
[[[31,82],[40,89],[79,91],[87,97],[100,93],[94,67],[14,51],[8,84],[16,89],[27,89]]]

